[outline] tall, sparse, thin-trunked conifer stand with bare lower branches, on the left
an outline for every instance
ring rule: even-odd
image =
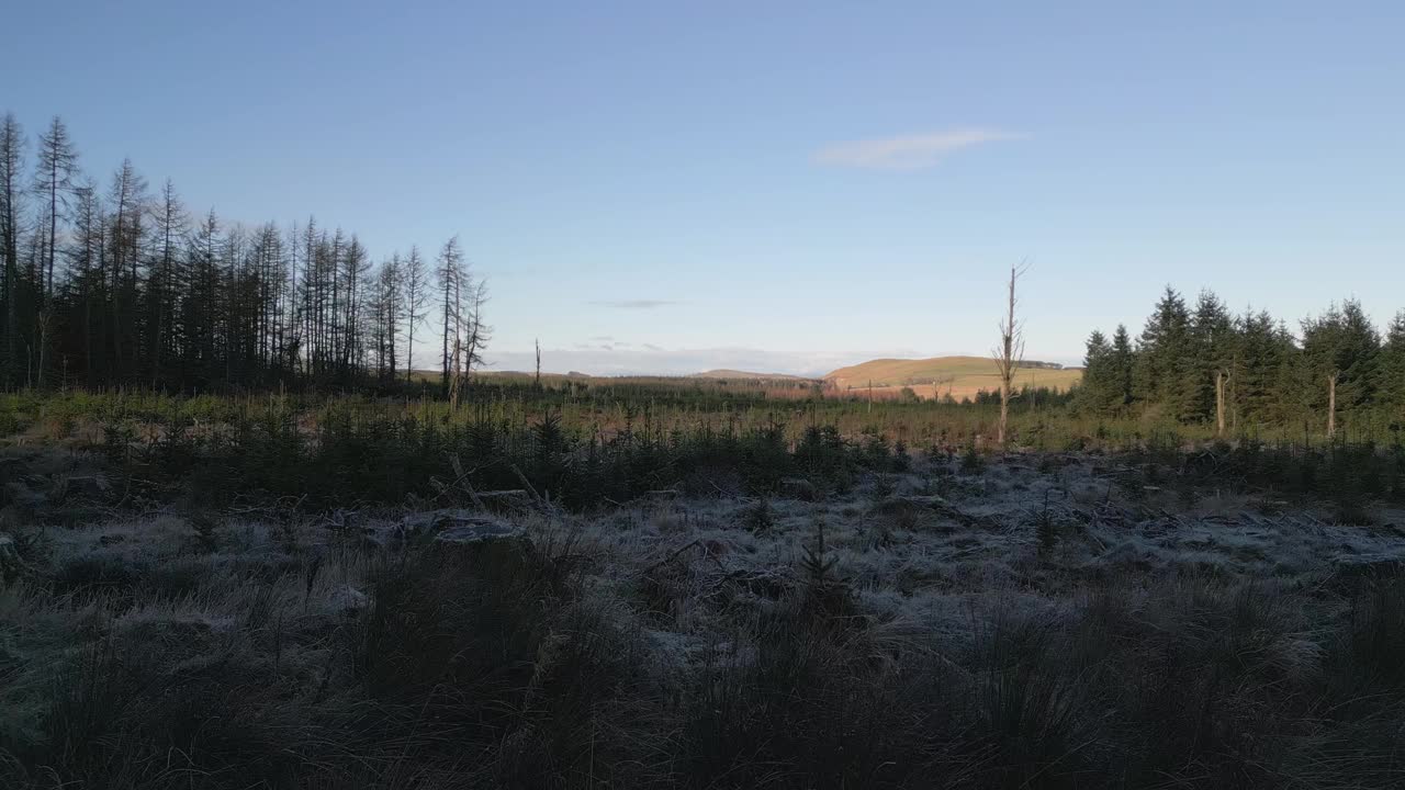
[[[86,177],[60,118],[34,141],[0,122],[0,385],[164,389],[392,384],[443,316],[441,385],[489,339],[483,283],[457,238],[379,266],[354,233],[191,219],[124,162]],[[422,340],[422,335],[419,335]]]

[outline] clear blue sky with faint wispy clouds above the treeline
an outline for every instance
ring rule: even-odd
[[[1232,6],[1232,7],[1231,7]],[[458,233],[489,358],[1028,356],[1170,283],[1405,306],[1401,3],[21,3],[0,108],[192,209]]]

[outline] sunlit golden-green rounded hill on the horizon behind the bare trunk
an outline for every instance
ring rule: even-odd
[[[1050,387],[1068,389],[1083,378],[1079,368],[1064,368],[1055,363],[1026,361],[1014,373],[1016,387]],[[835,388],[864,389],[870,382],[877,396],[894,396],[903,387],[923,398],[951,395],[957,401],[985,389],[1000,387],[999,370],[989,357],[932,357],[929,360],[870,360],[842,367],[825,375]]]

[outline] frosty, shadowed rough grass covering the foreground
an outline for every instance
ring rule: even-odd
[[[468,545],[392,509],[15,502],[0,786],[1405,784],[1388,505],[1082,455],[799,493]]]

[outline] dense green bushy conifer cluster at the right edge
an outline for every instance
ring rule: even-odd
[[[1221,433],[1309,420],[1331,436],[1342,415],[1405,415],[1405,311],[1383,336],[1347,299],[1294,333],[1267,312],[1234,315],[1210,291],[1190,306],[1168,287],[1137,340],[1125,326],[1094,330],[1085,367],[1076,403],[1090,413],[1155,410]]]

